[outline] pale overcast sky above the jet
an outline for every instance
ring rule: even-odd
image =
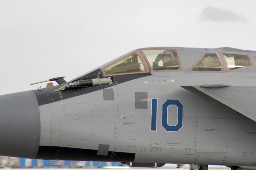
[[[137,48],[256,50],[255,9],[255,0],[0,0],[0,95],[69,81]]]

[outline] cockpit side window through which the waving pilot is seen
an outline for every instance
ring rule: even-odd
[[[180,63],[175,49],[141,50],[153,70],[179,70]]]

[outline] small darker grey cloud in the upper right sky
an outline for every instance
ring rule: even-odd
[[[200,21],[248,22],[241,14],[237,14],[226,9],[214,8],[212,6],[209,6],[203,10],[200,16]]]

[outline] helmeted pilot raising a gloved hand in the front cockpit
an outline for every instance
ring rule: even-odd
[[[163,67],[158,66],[158,62],[162,60],[163,62]],[[172,52],[169,50],[166,50],[163,52],[163,54],[158,54],[155,61],[153,62],[153,69],[155,70],[165,70],[165,69],[172,69],[171,66],[176,65],[176,63],[173,62],[172,60]],[[159,68],[157,68],[159,67]]]

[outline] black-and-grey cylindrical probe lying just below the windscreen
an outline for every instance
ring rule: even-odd
[[[112,79],[109,78],[93,78],[90,80],[79,80],[72,83],[68,83],[69,86],[94,86],[94,85],[106,85],[106,84],[112,84]]]

